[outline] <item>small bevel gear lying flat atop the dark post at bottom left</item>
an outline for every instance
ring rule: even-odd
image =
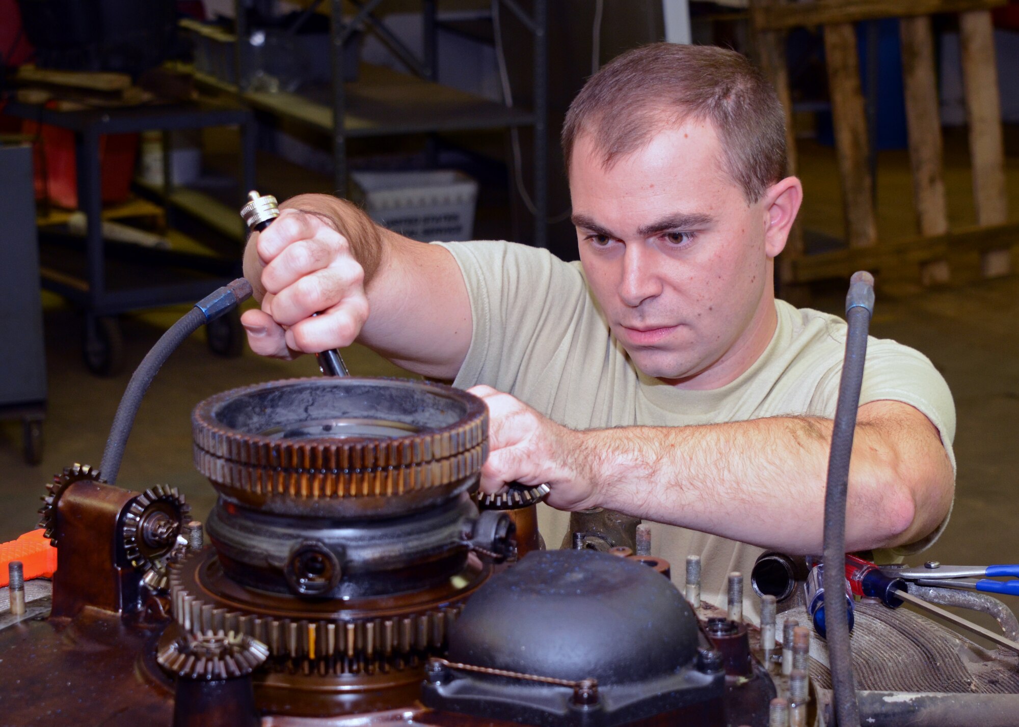
[[[262,641],[242,633],[189,633],[163,647],[159,666],[180,679],[212,681],[247,676],[269,657]]]

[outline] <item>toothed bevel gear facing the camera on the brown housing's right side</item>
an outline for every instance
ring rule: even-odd
[[[169,585],[167,560],[180,545],[190,514],[184,496],[166,485],[149,488],[127,506],[120,530],[124,553],[132,566],[145,572],[143,580],[153,591]]]

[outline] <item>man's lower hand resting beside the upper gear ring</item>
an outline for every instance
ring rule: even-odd
[[[547,483],[546,502],[560,510],[594,507],[596,492],[584,464],[583,432],[543,416],[530,406],[490,386],[468,391],[488,405],[488,459],[481,489],[498,492],[505,483]]]

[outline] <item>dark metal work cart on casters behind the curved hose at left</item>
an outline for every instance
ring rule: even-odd
[[[214,256],[152,249],[106,241],[102,233],[100,136],[110,133],[163,131],[163,186],[159,191],[167,210],[190,190],[174,189],[169,163],[169,132],[210,126],[240,127],[240,185],[233,210],[236,236],[243,239],[242,220],[236,215],[245,194],[255,186],[255,131],[251,112],[235,105],[207,102],[169,106],[139,106],[85,111],[55,111],[41,106],[9,103],[4,113],[51,124],[74,132],[78,208],[88,217],[85,239],[84,277],[44,261],[43,287],[79,306],[85,313],[84,355],[89,369],[100,376],[114,375],[122,365],[122,339],[116,316],[160,305],[191,302],[237,277],[240,250],[235,256]],[[193,197],[194,194],[192,194]],[[213,201],[209,201],[210,204]],[[65,256],[66,257],[66,256]],[[133,276],[133,285],[108,285],[111,261],[147,271],[144,279]],[[150,274],[151,272],[151,274]],[[237,317],[208,330],[209,347],[216,353],[235,355],[243,345]]]

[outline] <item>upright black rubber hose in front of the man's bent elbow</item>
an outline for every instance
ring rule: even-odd
[[[828,455],[824,494],[824,593],[828,608],[827,645],[835,692],[836,724],[859,727],[853,679],[853,655],[849,644],[849,619],[842,608],[846,591],[846,492],[849,489],[849,460],[853,454],[856,411],[860,405],[863,364],[867,356],[867,332],[874,310],[874,279],[870,273],[853,275],[846,296],[846,358],[839,382],[839,403],[835,410],[832,452]]]

